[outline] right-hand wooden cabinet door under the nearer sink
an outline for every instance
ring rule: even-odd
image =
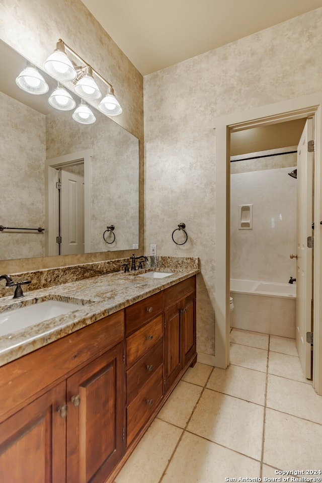
[[[105,481],[123,454],[123,343],[67,379],[67,481]]]

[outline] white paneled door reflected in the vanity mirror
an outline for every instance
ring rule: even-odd
[[[60,173],[60,255],[84,253],[84,176]]]

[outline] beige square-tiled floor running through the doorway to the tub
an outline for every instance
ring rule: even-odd
[[[295,341],[232,329],[230,361],[227,370],[188,369],[115,483],[278,481],[276,469],[322,470],[322,396],[303,376]]]

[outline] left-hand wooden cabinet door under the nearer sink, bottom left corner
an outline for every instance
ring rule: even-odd
[[[65,397],[62,382],[0,424],[1,481],[66,481]]]

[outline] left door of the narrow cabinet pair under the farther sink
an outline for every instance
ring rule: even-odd
[[[165,388],[172,385],[182,369],[181,304],[165,311]]]

